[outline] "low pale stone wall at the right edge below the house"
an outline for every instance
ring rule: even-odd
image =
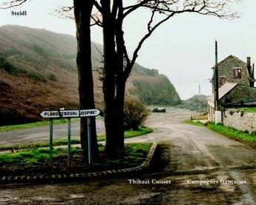
[[[226,110],[223,115],[223,124],[226,127],[256,134],[256,112]]]

